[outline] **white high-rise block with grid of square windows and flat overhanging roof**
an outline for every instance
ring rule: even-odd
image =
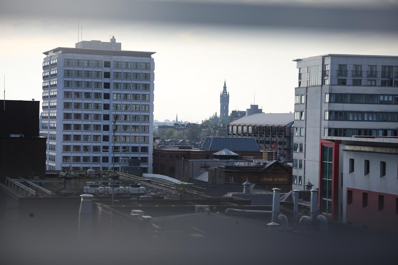
[[[139,159],[151,173],[154,52],[122,51],[112,37],[43,54],[47,169],[110,170],[114,160],[119,170]]]

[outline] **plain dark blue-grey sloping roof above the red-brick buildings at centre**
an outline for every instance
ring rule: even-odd
[[[224,148],[234,152],[258,152],[260,150],[256,139],[252,137],[206,137],[201,147],[203,150],[211,151],[219,151]]]

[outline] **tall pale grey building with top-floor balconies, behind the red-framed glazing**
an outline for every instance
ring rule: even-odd
[[[330,158],[320,159],[320,143],[326,145],[321,137],[398,135],[398,57],[327,54],[293,61],[298,68],[294,144],[304,144],[293,152],[293,189],[310,180],[321,190],[322,212],[331,214],[337,196],[332,186],[340,175],[329,160],[338,152],[322,150]]]

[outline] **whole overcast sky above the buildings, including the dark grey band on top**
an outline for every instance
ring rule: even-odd
[[[265,112],[293,111],[293,59],[327,53],[398,55],[395,0],[282,1],[285,5],[98,0],[94,11],[90,2],[78,12],[75,0],[0,2],[6,99],[41,100],[42,53],[74,47],[78,16],[83,40],[109,41],[113,34],[123,50],[156,52],[154,119],[159,121],[173,120],[176,113],[191,122],[219,114],[224,79],[230,111],[248,108],[254,92]]]

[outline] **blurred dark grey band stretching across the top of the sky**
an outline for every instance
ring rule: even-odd
[[[320,7],[308,4],[256,4],[176,1],[26,1],[2,2],[1,16],[10,18],[148,21],[205,26],[285,28],[293,30],[382,31],[397,33],[398,6]],[[134,29],[132,29],[133,32]],[[308,36],[310,38],[310,36]]]

